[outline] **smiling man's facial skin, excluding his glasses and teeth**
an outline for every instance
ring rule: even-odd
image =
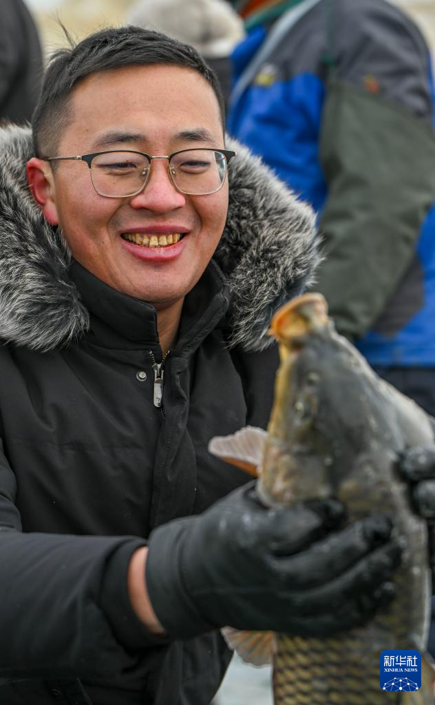
[[[178,66],[128,66],[95,73],[73,92],[73,120],[59,152],[106,149],[150,155],[191,147],[223,148],[216,96],[196,71]],[[211,259],[226,220],[228,181],[219,192],[178,192],[166,159],[154,159],[140,194],[107,198],[94,190],[84,161],[59,161],[50,174],[54,217],[73,257],[106,284],[157,309],[181,300]],[[182,233],[176,245],[152,248],[126,233]],[[124,235],[124,237],[123,237]],[[131,239],[131,238],[130,238]]]

